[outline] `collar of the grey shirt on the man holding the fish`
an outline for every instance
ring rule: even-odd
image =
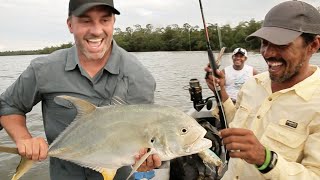
[[[111,54],[106,65],[104,66],[104,69],[110,72],[111,74],[119,74],[120,73],[119,59],[120,59],[120,47],[113,40]],[[68,52],[65,71],[74,70],[77,65],[80,67],[77,48],[76,48],[76,45],[74,45],[70,48]]]

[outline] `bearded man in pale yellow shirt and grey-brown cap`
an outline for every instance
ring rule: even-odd
[[[309,64],[320,48],[320,13],[302,1],[280,3],[248,39],[255,37],[268,72],[242,86],[235,106],[224,74],[207,78],[211,89],[220,85],[230,127],[220,132],[231,157],[222,179],[320,179],[320,70]]]

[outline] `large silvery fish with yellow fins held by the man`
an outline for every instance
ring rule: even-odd
[[[58,104],[70,101],[77,108],[75,120],[51,143],[48,156],[67,160],[113,179],[117,169],[135,163],[135,155],[149,151],[138,161],[129,177],[151,154],[162,161],[204,151],[212,142],[195,119],[173,107],[161,105],[112,105],[96,107],[79,98],[58,96]],[[18,153],[16,148],[0,151]],[[12,179],[31,168],[22,158]],[[129,178],[128,177],[128,178]]]

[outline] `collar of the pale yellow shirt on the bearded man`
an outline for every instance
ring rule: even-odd
[[[311,76],[307,77],[305,80],[299,82],[291,88],[283,89],[279,92],[286,93],[288,91],[295,91],[295,93],[301,98],[303,98],[305,101],[310,100],[320,85],[320,69],[318,66],[311,65],[311,67],[316,68],[316,71]],[[269,78],[268,72],[258,74],[254,76],[254,78],[257,84],[263,86],[268,92],[270,92],[270,94],[272,93],[271,80]]]

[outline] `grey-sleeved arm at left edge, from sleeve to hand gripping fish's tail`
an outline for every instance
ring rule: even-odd
[[[32,160],[45,159],[48,151],[44,138],[33,138],[26,126],[25,114],[40,100],[32,64],[0,97],[1,126],[16,143],[19,154]]]

